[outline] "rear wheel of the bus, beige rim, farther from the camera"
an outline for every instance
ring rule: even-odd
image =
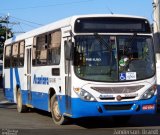
[[[28,107],[22,104],[22,95],[20,89],[17,91],[17,111],[19,113],[27,112]]]

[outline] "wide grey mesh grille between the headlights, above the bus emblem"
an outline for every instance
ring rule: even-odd
[[[91,87],[91,88],[101,94],[118,94],[118,93],[133,93],[140,90],[143,87],[144,85],[126,86],[126,87]]]

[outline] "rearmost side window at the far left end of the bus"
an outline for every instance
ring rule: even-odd
[[[11,66],[10,57],[11,57],[11,45],[8,45],[5,47],[5,58],[4,58],[5,68],[9,68]]]

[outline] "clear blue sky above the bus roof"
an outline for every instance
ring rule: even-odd
[[[153,22],[153,0],[0,0],[0,17],[9,15],[15,33],[81,14],[127,14]]]

